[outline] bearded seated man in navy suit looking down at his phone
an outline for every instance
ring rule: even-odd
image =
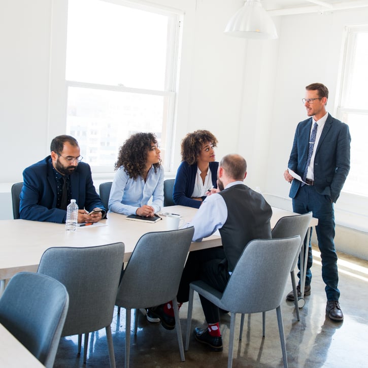
[[[81,162],[77,140],[66,135],[55,137],[50,150],[50,156],[23,171],[20,218],[65,222],[66,206],[74,198],[79,207],[78,223],[101,220],[106,209],[93,186],[89,165]],[[103,211],[88,215],[97,208]]]

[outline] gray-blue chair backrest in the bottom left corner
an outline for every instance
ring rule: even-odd
[[[51,368],[68,306],[68,292],[60,282],[45,275],[20,272],[9,281],[0,298],[0,322]]]

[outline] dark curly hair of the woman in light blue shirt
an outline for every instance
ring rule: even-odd
[[[115,170],[123,166],[129,178],[137,179],[146,170],[147,155],[152,143],[157,144],[154,133],[140,132],[131,135],[119,149]],[[161,160],[153,164],[155,172],[160,165]]]

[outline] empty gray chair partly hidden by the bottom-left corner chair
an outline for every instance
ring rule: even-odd
[[[84,334],[84,363],[89,332],[105,327],[110,366],[115,367],[110,325],[123,258],[123,243],[85,248],[49,248],[41,257],[37,272],[59,280],[69,292],[69,311],[61,336],[78,334],[79,353],[81,335]]]

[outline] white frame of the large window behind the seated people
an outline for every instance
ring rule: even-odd
[[[169,101],[165,128],[162,129],[162,140],[165,139],[165,160],[164,170],[171,172],[173,170],[173,142],[175,135],[175,126],[177,118],[177,93],[181,60],[182,46],[182,24],[183,12],[160,6],[158,4],[149,4],[138,1],[131,2],[126,0],[99,0],[107,3],[121,5],[124,7],[135,8],[149,11],[156,14],[168,16],[169,32],[166,40],[168,48],[166,51],[166,76],[163,90],[152,90],[142,88],[125,87],[122,85],[105,85],[95,83],[85,83],[77,81],[68,81],[65,78],[66,70],[66,36],[68,30],[68,2],[64,0],[54,0],[52,3],[52,32],[51,32],[51,50],[50,50],[50,85],[49,85],[49,111],[48,111],[48,131],[47,139],[51,141],[57,135],[66,132],[68,89],[70,87],[92,88],[97,90],[130,92],[148,95],[158,95],[167,97]],[[167,72],[169,70],[169,72]],[[123,142],[121,142],[122,144]],[[93,166],[92,171],[97,176],[106,176],[114,172],[114,162],[108,166]]]

